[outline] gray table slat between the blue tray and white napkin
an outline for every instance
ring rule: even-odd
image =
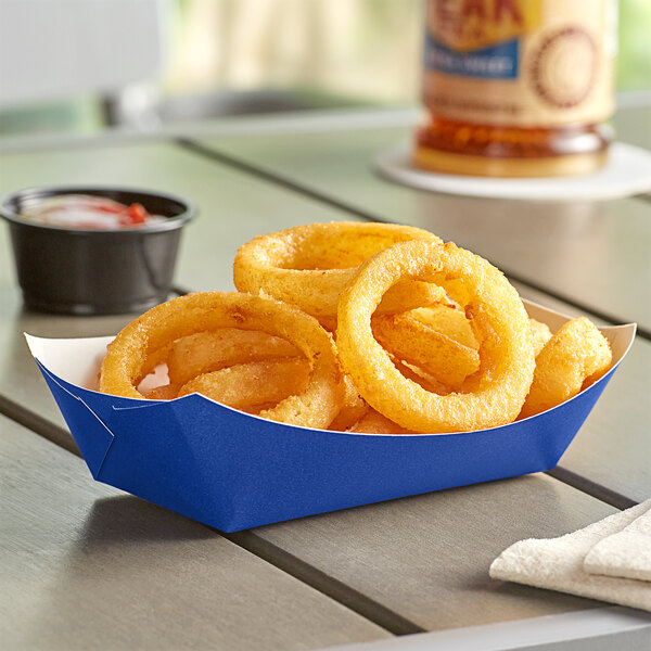
[[[597,602],[488,577],[523,538],[615,509],[546,475],[454,488],[253,529],[427,630],[583,610]]]

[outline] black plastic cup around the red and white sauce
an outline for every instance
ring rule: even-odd
[[[142,204],[166,219],[122,230],[81,230],[30,222],[22,210],[52,196],[87,194]],[[141,312],[167,299],[182,227],[195,217],[182,199],[119,188],[33,188],[5,196],[25,305],[72,315]]]

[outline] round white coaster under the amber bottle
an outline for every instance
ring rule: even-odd
[[[651,152],[615,142],[604,167],[586,176],[495,179],[417,169],[411,164],[411,143],[382,151],[375,158],[380,175],[405,186],[433,192],[538,201],[622,199],[651,192]]]

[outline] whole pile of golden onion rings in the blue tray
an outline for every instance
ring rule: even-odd
[[[590,321],[552,335],[497,268],[418,228],[269,233],[240,248],[233,277],[238,292],[174,298],[129,323],[100,390],[201,393],[306,427],[464,432],[549,409],[612,363]]]

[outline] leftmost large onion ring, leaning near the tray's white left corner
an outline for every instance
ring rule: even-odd
[[[307,388],[265,411],[265,418],[326,429],[343,403],[343,375],[332,337],[299,309],[271,298],[237,292],[188,294],[157,305],[131,321],[108,344],[100,391],[142,398],[133,386],[148,355],[169,342],[204,330],[260,330],[294,344],[311,365]]]

